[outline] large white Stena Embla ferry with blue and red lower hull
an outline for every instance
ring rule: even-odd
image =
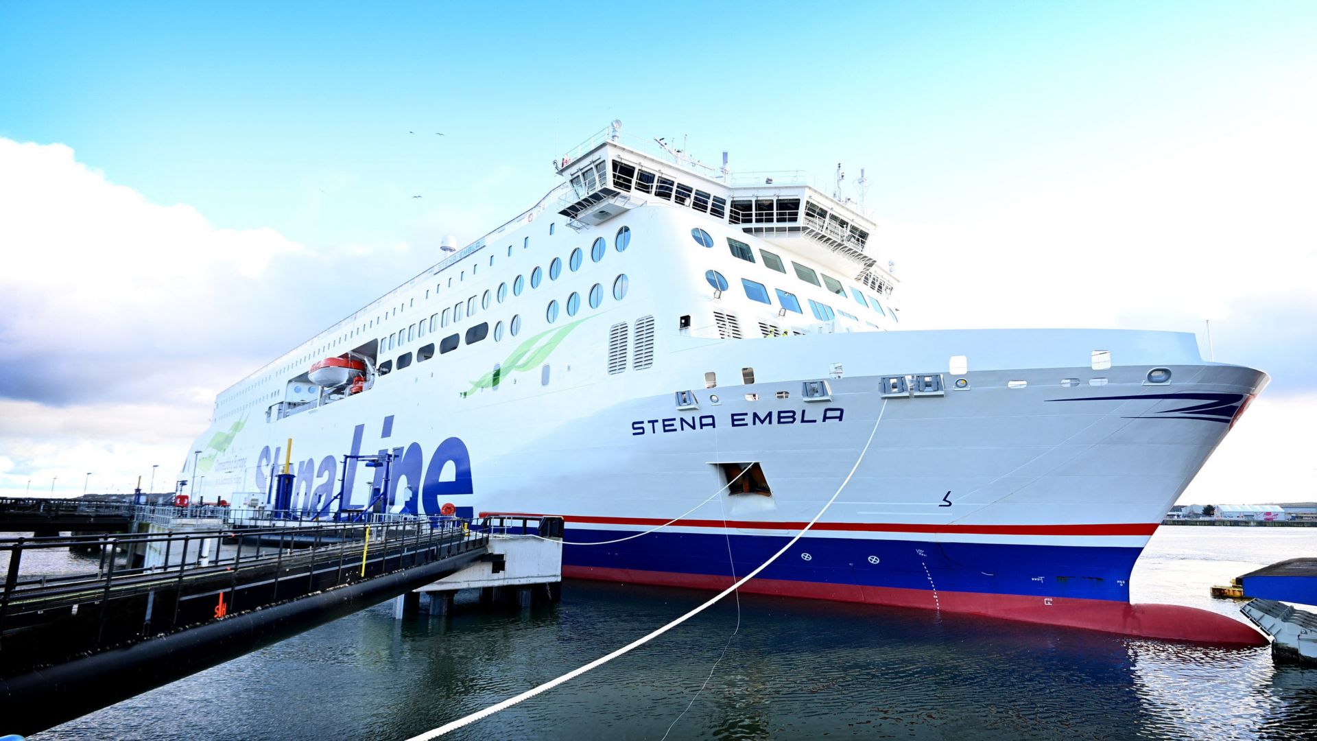
[[[1179,332],[902,330],[840,169],[732,173],[620,121],[553,169],[220,393],[179,479],[266,510],[561,516],[565,576],[705,589],[818,517],[743,589],[1258,642],[1129,595],[1264,373]]]

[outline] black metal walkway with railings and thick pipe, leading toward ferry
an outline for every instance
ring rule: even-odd
[[[487,545],[462,521],[431,518],[0,539],[0,734],[50,728],[403,595]],[[100,567],[36,574],[55,548],[100,552]]]

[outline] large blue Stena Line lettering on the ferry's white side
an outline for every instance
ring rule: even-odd
[[[383,440],[392,436],[394,415],[385,417],[379,430],[381,455],[394,454],[390,467],[389,481],[389,512],[399,514],[440,514],[440,508],[452,497],[461,497],[474,493],[471,484],[471,456],[466,450],[466,443],[461,438],[446,438],[435,447],[429,455],[420,443],[407,442],[395,446],[386,446]],[[349,455],[361,455],[362,439],[366,434],[365,425],[357,425],[352,431]],[[391,440],[390,440],[391,442]],[[265,446],[261,450],[257,467],[257,487],[262,493],[271,488],[270,472],[274,467],[283,465],[283,448]],[[367,454],[369,455],[369,454]],[[294,460],[288,469],[294,473],[292,483],[292,509],[320,510],[329,506],[331,500],[338,492],[338,471],[341,468],[338,456],[325,455],[323,458],[307,458]],[[373,472],[369,492],[383,489],[385,468],[365,468],[360,460],[349,459],[348,469],[344,472],[344,497],[338,501],[340,510],[363,509],[369,501],[354,501],[353,493],[360,488],[357,476],[361,471]],[[445,475],[446,472],[446,475]],[[357,500],[363,497],[358,494]],[[395,509],[402,504],[402,509]]]

